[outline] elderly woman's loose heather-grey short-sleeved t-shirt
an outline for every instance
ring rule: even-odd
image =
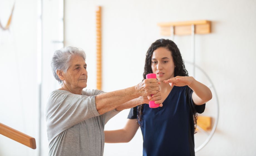
[[[95,96],[101,90],[83,90],[82,95],[54,90],[46,106],[49,156],[100,156],[104,150],[104,126],[119,111],[100,115]]]

